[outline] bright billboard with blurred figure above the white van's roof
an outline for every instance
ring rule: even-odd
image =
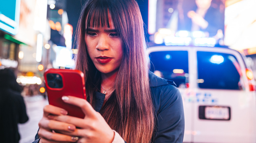
[[[166,43],[164,40],[177,42],[174,38],[179,31],[188,32],[186,37],[191,37],[192,41],[195,38],[214,38],[210,40],[223,42],[224,10],[224,0],[149,0],[148,33],[155,34],[156,43]]]

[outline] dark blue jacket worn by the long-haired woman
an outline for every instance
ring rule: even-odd
[[[184,111],[180,91],[173,81],[165,80],[149,72],[149,84],[156,112],[156,132],[153,143],[182,143],[184,136]],[[105,94],[96,92],[96,107],[99,112]],[[35,136],[38,142],[38,135]]]

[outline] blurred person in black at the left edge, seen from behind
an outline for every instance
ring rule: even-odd
[[[11,69],[0,70],[0,142],[18,143],[18,123],[28,121],[22,88]]]

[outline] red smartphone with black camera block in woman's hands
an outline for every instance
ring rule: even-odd
[[[62,101],[65,95],[75,96],[86,100],[84,74],[79,70],[47,69],[44,73],[49,104],[63,108],[68,115],[84,118],[80,107]]]

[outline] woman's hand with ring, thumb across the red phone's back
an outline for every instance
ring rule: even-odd
[[[56,121],[65,122],[66,127],[68,125],[78,127],[74,132],[62,130],[60,133],[78,136],[78,143],[111,143],[113,141],[115,135],[114,131],[110,128],[105,119],[93,109],[90,103],[84,99],[73,96],[63,96],[62,100],[80,107],[85,117],[81,119],[72,116],[48,116],[48,118]]]

